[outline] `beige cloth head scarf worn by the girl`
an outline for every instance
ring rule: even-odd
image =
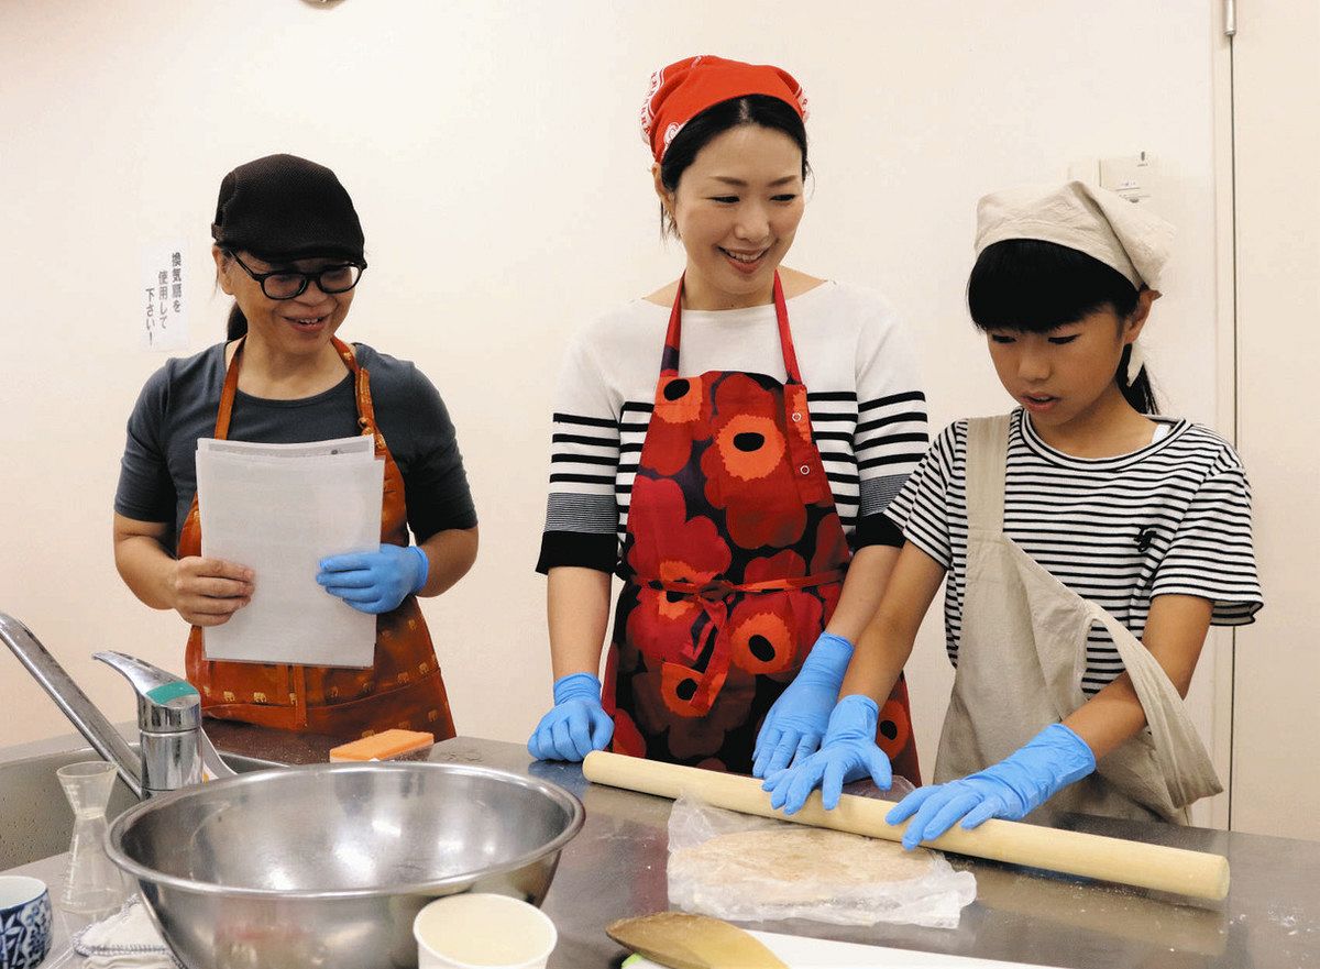
[[[993,191],[977,202],[977,255],[1006,239],[1040,239],[1078,250],[1138,289],[1146,285],[1158,292],[1173,226],[1107,189],[1065,182]],[[1143,364],[1133,343],[1127,383]]]

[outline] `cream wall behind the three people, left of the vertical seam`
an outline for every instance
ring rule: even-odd
[[[119,718],[128,690],[92,650],[181,668],[181,620],[133,599],[110,547],[124,420],[162,363],[137,342],[141,250],[187,240],[191,350],[218,341],[219,180],[289,150],[334,168],[366,227],[343,335],[417,360],[459,429],[482,554],[426,603],[458,729],[524,739],[549,698],[532,564],[553,375],[574,327],[680,268],[636,117],[649,71],[690,53],[805,84],[816,184],[788,261],[891,297],[937,428],[1008,405],[962,302],[977,197],[1151,152],[1181,226],[1152,366],[1171,411],[1214,425],[1210,7],[8,0],[0,610]],[[937,614],[909,668],[928,763],[952,679]],[[8,653],[0,704],[0,745],[67,730]]]

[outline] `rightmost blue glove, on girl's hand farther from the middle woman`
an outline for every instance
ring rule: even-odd
[[[1096,755],[1069,727],[1051,723],[1024,747],[983,771],[948,784],[920,787],[886,816],[890,824],[912,817],[903,848],[937,838],[962,819],[975,828],[991,817],[1020,821],[1059,791],[1096,770]]]

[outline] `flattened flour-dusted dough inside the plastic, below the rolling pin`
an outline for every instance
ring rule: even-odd
[[[671,878],[706,888],[755,892],[764,904],[814,904],[879,882],[904,882],[931,870],[924,848],[824,828],[776,828],[719,834],[675,852]]]

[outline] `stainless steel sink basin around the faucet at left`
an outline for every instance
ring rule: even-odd
[[[137,751],[136,743],[129,746]],[[282,766],[236,754],[220,756],[239,774]],[[74,816],[55,771],[99,759],[91,747],[82,747],[0,763],[0,871],[69,850]],[[116,780],[106,819],[114,821],[133,804],[137,799]]]

